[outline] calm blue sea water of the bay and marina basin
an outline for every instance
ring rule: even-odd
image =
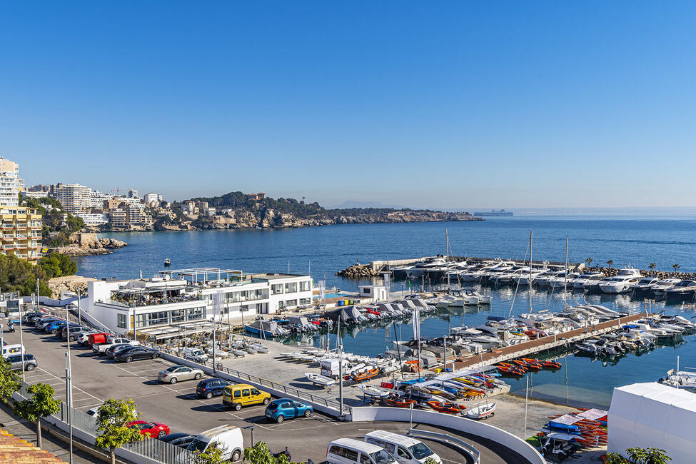
[[[694,216],[519,216],[491,218],[470,223],[404,223],[350,224],[288,230],[265,231],[192,231],[153,233],[111,233],[109,236],[130,245],[108,256],[77,258],[82,276],[134,278],[163,269],[165,258],[171,268],[203,266],[241,269],[246,272],[291,271],[310,272],[328,286],[354,290],[358,283],[334,276],[336,271],[355,261],[367,263],[376,259],[414,258],[445,253],[445,229],[452,251],[460,256],[523,258],[528,247],[529,231],[534,234],[533,258],[563,261],[565,236],[570,237],[570,261],[592,263],[614,261],[613,266],[647,268],[656,263],[658,270],[671,271],[679,264],[680,271],[696,271],[696,217]],[[400,283],[394,284],[400,290]],[[516,296],[510,288],[493,290],[493,305],[486,312],[443,311],[423,321],[423,336],[441,336],[448,327],[483,323],[487,316],[507,316],[529,308],[525,289]],[[514,304],[513,304],[514,298]],[[568,296],[568,303],[601,303],[610,308],[637,311],[646,305],[654,311],[696,316],[693,304],[665,306],[652,301],[635,301],[627,295]],[[535,311],[563,308],[563,296],[547,291],[532,292]],[[397,324],[397,333],[409,338],[413,330]],[[312,340],[323,346],[328,338]],[[346,350],[375,355],[390,348],[394,340],[393,326],[359,328],[344,335]],[[613,363],[574,355],[562,360],[564,368],[555,372],[531,375],[532,395],[558,402],[608,405],[612,388],[627,383],[652,381],[674,367],[677,355],[681,365],[696,366],[696,336],[685,337],[685,343],[660,346],[644,355],[627,355]],[[523,390],[525,380],[508,380],[513,391]]]

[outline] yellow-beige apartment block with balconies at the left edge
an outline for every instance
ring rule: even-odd
[[[41,214],[23,206],[0,207],[2,253],[36,261],[41,258]]]

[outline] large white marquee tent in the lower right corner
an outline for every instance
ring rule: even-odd
[[[660,383],[614,388],[608,450],[662,448],[674,463],[696,462],[696,393]]]

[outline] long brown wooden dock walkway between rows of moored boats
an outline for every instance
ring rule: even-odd
[[[491,365],[495,363],[500,363],[502,361],[520,358],[522,356],[534,355],[540,351],[553,350],[555,348],[561,348],[563,346],[575,343],[578,341],[585,340],[586,338],[592,338],[602,335],[603,333],[616,331],[618,328],[626,323],[632,321],[637,321],[639,319],[647,317],[647,313],[637,313],[632,316],[625,316],[622,318],[612,319],[611,321],[605,321],[589,328],[578,328],[573,331],[568,331],[564,333],[558,333],[557,335],[537,338],[536,340],[530,340],[524,343],[519,343],[518,345],[505,346],[504,348],[498,348],[494,351],[487,351],[483,354],[471,354],[459,361],[450,363],[448,361],[447,366],[453,370],[460,369],[478,369],[486,365]],[[586,331],[587,330],[587,331]]]

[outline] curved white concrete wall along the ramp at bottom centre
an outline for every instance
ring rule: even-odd
[[[410,420],[410,410],[405,408],[383,408],[365,406],[353,408],[351,420],[355,422],[373,420],[395,420],[398,422],[408,422]],[[453,415],[435,413],[433,411],[413,410],[413,422],[447,427],[460,432],[488,438],[495,443],[515,451],[530,464],[546,464],[546,460],[535,448],[525,440],[515,437],[512,433],[505,432],[498,427],[488,425],[483,422],[460,418]]]

